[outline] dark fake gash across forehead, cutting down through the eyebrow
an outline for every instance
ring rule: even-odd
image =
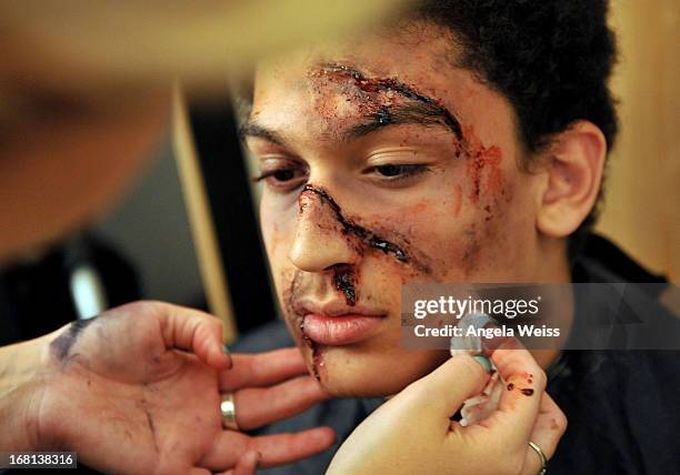
[[[376,123],[372,129],[407,122],[418,122],[422,124],[442,123],[449,128],[459,140],[463,138],[460,122],[447,108],[436,99],[418,92],[413,87],[407,85],[394,78],[368,78],[354,68],[336,63],[321,63],[312,69],[312,74],[326,77],[336,75],[351,79],[354,85],[364,93],[392,92],[416,103],[410,108],[381,107],[378,112],[374,113]],[[361,134],[362,132],[366,133],[372,130],[370,125],[366,128],[369,130],[359,128],[354,133]]]

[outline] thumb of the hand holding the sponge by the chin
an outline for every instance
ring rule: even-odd
[[[472,356],[460,354],[447,360],[427,376],[416,381],[404,393],[420,400],[421,415],[441,421],[456,414],[463,402],[482,392],[489,381],[486,368]]]

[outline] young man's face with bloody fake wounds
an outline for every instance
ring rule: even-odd
[[[509,102],[434,28],[262,64],[244,125],[281,306],[336,395],[393,394],[446,352],[400,345],[404,283],[529,282],[536,186]]]

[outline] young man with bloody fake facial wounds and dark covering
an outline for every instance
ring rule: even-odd
[[[242,130],[262,232],[288,330],[331,394],[394,394],[448,357],[400,344],[402,284],[651,279],[583,251],[617,131],[606,20],[604,1],[432,1],[260,64]],[[242,347],[288,341],[262,332]],[[570,421],[551,473],[678,466],[679,417],[659,413],[678,396],[674,353],[534,357]],[[332,401],[288,424],[330,424],[341,442],[379,403]]]

